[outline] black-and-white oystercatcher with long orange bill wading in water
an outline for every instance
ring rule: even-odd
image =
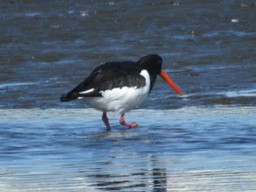
[[[167,74],[162,70],[159,55],[146,55],[139,61],[108,62],[97,66],[91,74],[69,93],[61,96],[61,101],[84,99],[89,106],[103,112],[102,120],[110,131],[107,112],[121,114],[119,122],[129,128],[138,127],[137,123],[127,123],[124,113],[140,104],[154,86],[159,74],[166,82],[182,95]]]

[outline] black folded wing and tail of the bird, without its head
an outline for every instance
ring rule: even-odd
[[[78,97],[98,97],[102,96],[102,91],[124,86],[140,88],[146,84],[145,78],[140,75],[141,70],[142,68],[132,61],[103,64],[94,69],[86,80],[72,91],[61,96],[61,101],[70,101]]]

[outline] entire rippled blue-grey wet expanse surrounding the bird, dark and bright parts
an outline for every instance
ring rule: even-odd
[[[255,191],[254,1],[1,1],[0,191]],[[105,131],[59,96],[107,61],[160,78]]]

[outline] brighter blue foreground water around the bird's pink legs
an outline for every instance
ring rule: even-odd
[[[255,107],[0,110],[6,191],[242,191],[256,187]],[[71,115],[72,114],[72,115]],[[152,118],[154,117],[154,118]]]

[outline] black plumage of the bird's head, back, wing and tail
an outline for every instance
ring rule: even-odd
[[[162,58],[159,55],[146,55],[135,63],[133,61],[109,62],[97,66],[91,74],[83,80],[78,86],[61,96],[61,101],[70,101],[78,97],[97,97],[102,96],[101,91],[111,90],[113,88],[143,87],[146,85],[146,79],[140,72],[143,69],[148,71],[150,76],[150,91],[156,82],[157,74],[162,67]],[[94,89],[90,93],[80,93]]]

